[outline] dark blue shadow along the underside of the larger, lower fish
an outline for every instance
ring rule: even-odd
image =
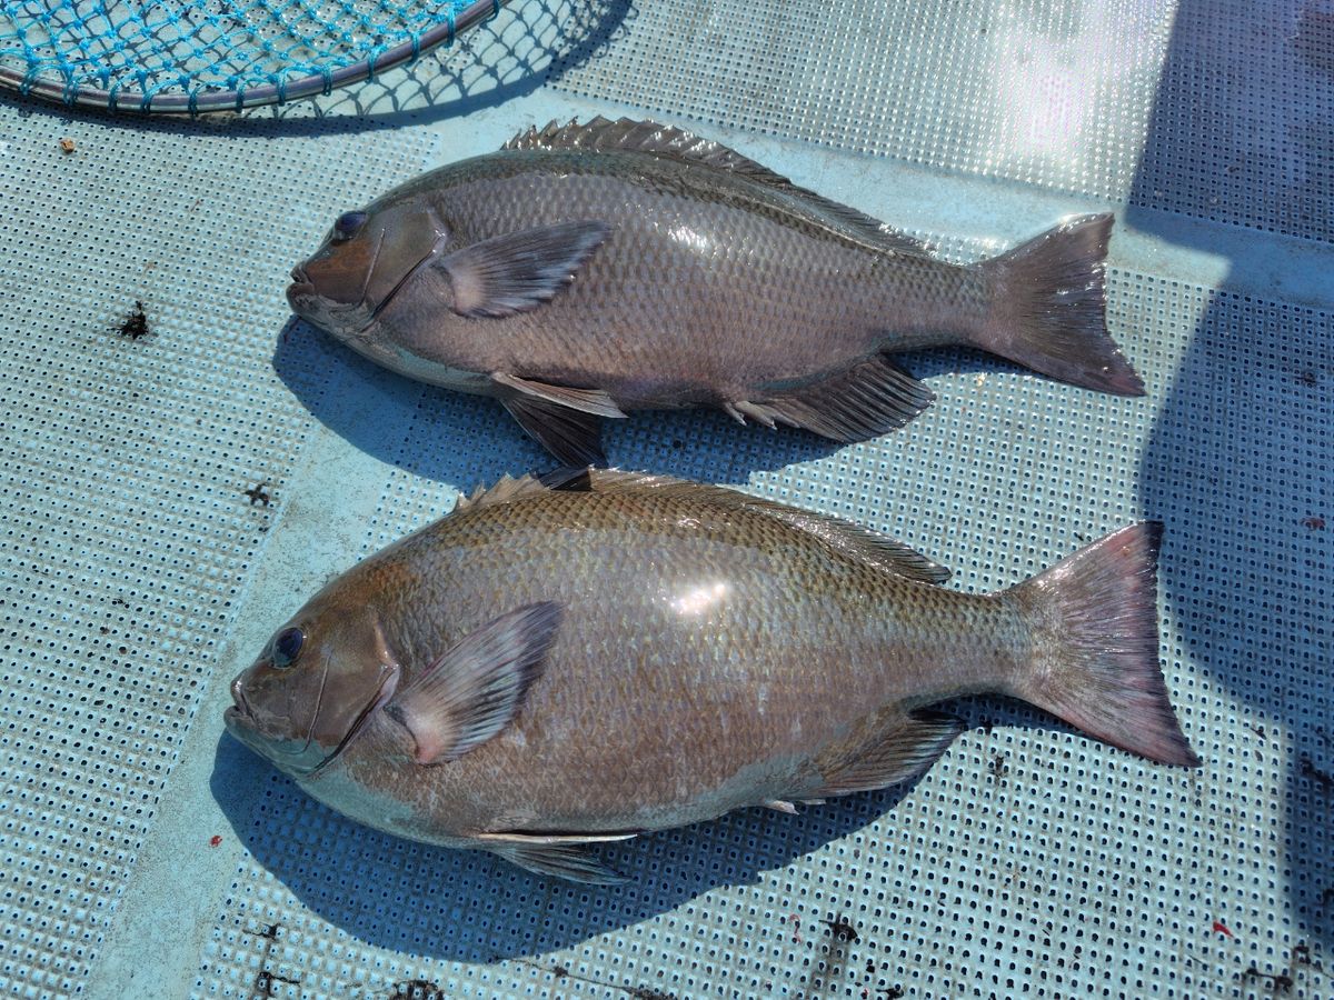
[[[998,699],[960,699],[950,703],[950,711],[982,724],[1050,721]],[[887,844],[875,843],[876,833],[886,840],[898,833],[894,811],[915,783],[800,807],[796,816],[742,809],[710,823],[591,848],[626,877],[619,885],[568,883],[482,851],[431,847],[362,827],[317,803],[225,733],[209,785],[253,864],[320,919],[378,948],[491,964],[560,952],[715,891],[748,895],[770,909],[796,907],[806,883],[783,872],[803,856],[828,855],[832,841],[858,831],[864,836],[842,844],[831,864],[858,864],[863,852],[870,860],[888,851]],[[868,829],[876,820],[882,823]],[[800,865],[803,872],[810,868]],[[255,872],[240,876],[243,883],[247,877]],[[774,901],[775,889],[790,899]],[[243,907],[245,893],[236,897],[237,908]],[[823,932],[820,927],[804,929],[807,936]]]

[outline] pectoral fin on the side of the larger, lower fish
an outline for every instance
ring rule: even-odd
[[[386,724],[406,732],[414,760],[444,764],[499,733],[519,711],[556,636],[554,601],[502,615],[432,663],[386,703]]]

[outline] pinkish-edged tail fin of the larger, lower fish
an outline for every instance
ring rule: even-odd
[[[1199,767],[1158,668],[1161,539],[1162,524],[1133,524],[1010,591],[1039,629],[1011,691],[1115,747]]]

